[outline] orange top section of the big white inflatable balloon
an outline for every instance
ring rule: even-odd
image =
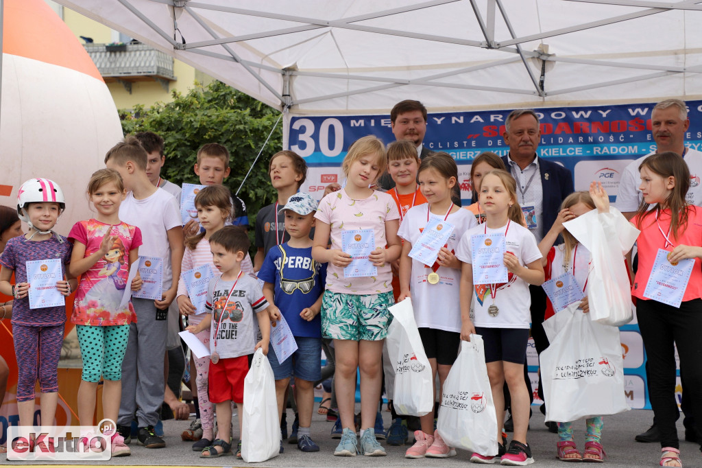
[[[68,26],[43,0],[5,0],[3,52],[59,65],[102,80]]]

